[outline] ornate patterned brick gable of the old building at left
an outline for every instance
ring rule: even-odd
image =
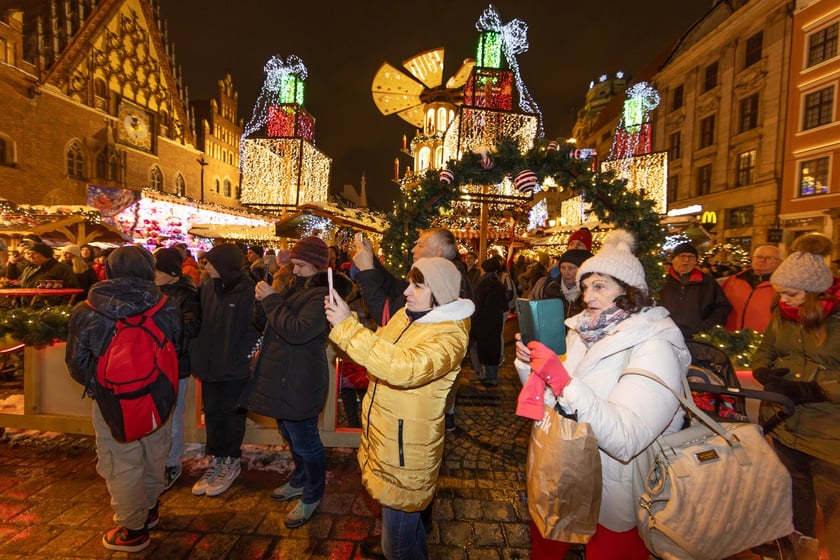
[[[100,2],[44,81],[110,115],[116,115],[123,102],[130,102],[155,114],[157,134],[195,143],[148,0]]]

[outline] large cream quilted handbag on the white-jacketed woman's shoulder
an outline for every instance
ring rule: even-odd
[[[793,532],[791,480],[756,424],[718,423],[655,375],[699,420],[635,461],[645,545],[665,560],[717,560]],[[683,380],[686,394],[688,382]]]

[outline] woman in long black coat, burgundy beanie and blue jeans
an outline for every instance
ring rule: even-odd
[[[285,520],[286,527],[294,528],[309,521],[318,509],[326,485],[327,458],[318,416],[329,385],[324,297],[330,256],[321,239],[304,237],[292,247],[290,257],[294,283],[285,293],[275,292],[266,282],[256,286],[257,317],[265,332],[243,405],[276,418],[289,444],[295,468],[289,482],[276,488],[271,497],[277,501],[299,498]],[[336,274],[334,281],[339,278],[343,276]]]

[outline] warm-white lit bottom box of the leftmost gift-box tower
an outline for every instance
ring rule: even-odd
[[[300,138],[242,142],[242,204],[297,206],[327,200],[332,160]]]

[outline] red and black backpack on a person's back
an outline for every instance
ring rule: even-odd
[[[94,398],[117,441],[134,441],[152,433],[175,406],[178,354],[154,321],[166,299],[161,297],[139,315],[117,319],[111,341],[96,364]]]

